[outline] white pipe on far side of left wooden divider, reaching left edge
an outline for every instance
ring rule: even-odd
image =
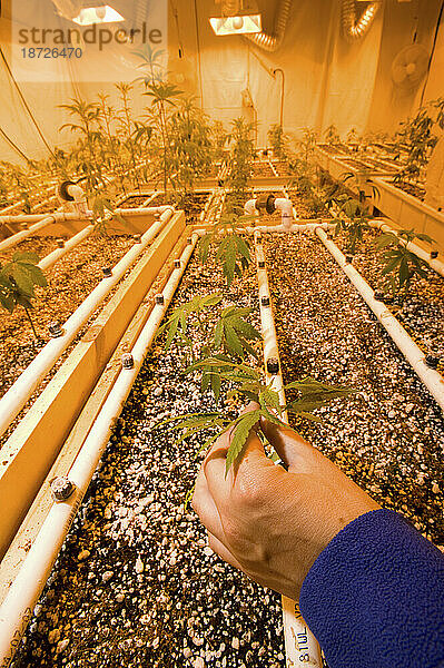
[[[121,281],[128,268],[136,262],[139,255],[144,253],[145,248],[150,244],[155,236],[159,234],[166,223],[171,218],[174,212],[171,207],[166,206],[146,210],[161,214],[160,219],[144,234],[141,243],[135,244],[114,267],[112,276],[103,278],[88,295],[85,302],[80,304],[77,311],[72,313],[62,327],[63,335],[59,338],[52,338],[46,344],[37,357],[18,377],[12,387],[10,387],[0,400],[0,435],[4,433],[11,422],[20,413],[21,409],[30,399],[42,379],[45,379],[63,351],[66,351],[77,336],[79,330],[83,327],[101,302],[108,296],[119,281]]]

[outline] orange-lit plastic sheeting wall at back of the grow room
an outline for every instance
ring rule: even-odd
[[[48,11],[48,3],[50,0],[39,1],[36,11]],[[277,4],[277,0],[259,0],[266,30],[273,30]],[[412,42],[415,30],[417,41],[431,48],[441,0],[422,0],[421,7],[418,0],[384,0],[383,7],[368,35],[348,45],[341,36],[339,0],[294,0],[282,49],[266,53],[240,37],[215,37],[208,22],[214,11],[211,0],[169,0],[171,76],[184,90],[201,98],[211,117],[226,122],[241,114],[257,119],[259,145],[266,143],[269,125],[279,119],[280,76],[270,76],[275,68],[285,71],[284,125],[288,131],[298,134],[304,127],[322,130],[332,122],[343,134],[352,127],[358,131],[389,131],[411,112],[421,99],[423,87],[408,92],[396,90],[391,80],[392,60],[401,48]],[[437,97],[444,88],[442,33],[443,30],[424,99]],[[7,21],[2,19],[3,45],[7,36]],[[109,62],[116,70],[116,81],[131,80],[138,75],[136,60],[121,62],[110,53]],[[55,67],[63,66],[56,63]],[[91,68],[95,67],[97,63],[91,61]],[[75,69],[72,78],[76,79]],[[45,145],[1,62],[0,86],[0,127],[27,155],[43,157]],[[97,92],[110,92],[116,99],[110,84],[28,82],[20,86],[48,141],[58,146],[72,140],[69,132],[58,131],[68,120],[58,105],[68,102],[76,94],[92,99]],[[243,104],[241,94],[246,89],[254,108]],[[142,112],[146,101],[139,95],[134,96],[137,114]],[[2,138],[0,151],[0,159],[18,159]]]

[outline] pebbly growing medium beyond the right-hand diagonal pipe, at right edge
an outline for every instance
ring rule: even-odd
[[[381,287],[381,254],[374,249],[378,236],[376,230],[365,232],[353,261],[373,289]],[[344,235],[338,235],[334,240],[345,252]],[[444,278],[433,269],[427,269],[426,278],[413,278],[404,303],[394,303],[388,307],[426,354],[441,357],[440,371],[444,373]]]

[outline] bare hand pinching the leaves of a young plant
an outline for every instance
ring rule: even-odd
[[[288,471],[265,455],[258,429]],[[226,432],[208,452],[193,498],[209,547],[259,584],[297,599],[330,540],[379,505],[289,428],[262,421],[225,475],[229,442]]]

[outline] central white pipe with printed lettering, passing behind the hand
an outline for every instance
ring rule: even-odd
[[[258,243],[257,234],[255,234],[255,249],[257,261],[257,281],[259,284],[259,306],[260,306],[260,324],[264,338],[264,363],[267,381],[273,383],[273,389],[279,394],[280,405],[286,405],[284,380],[280,371],[279,347],[276,336],[275,320],[273,316],[272,302],[269,306],[264,306],[263,297],[270,299],[270,291],[268,285],[268,276],[266,265],[259,267],[259,262],[265,264],[265,253],[262,244]],[[270,374],[267,370],[267,362],[270,358],[276,358],[279,363],[277,374]],[[288,424],[288,415],[282,416],[283,421]],[[313,666],[320,668],[323,665],[319,645],[304,621],[299,605],[292,599],[283,596],[283,618],[284,618],[284,636],[287,666],[295,668],[306,668]],[[302,649],[303,648],[303,649]]]

